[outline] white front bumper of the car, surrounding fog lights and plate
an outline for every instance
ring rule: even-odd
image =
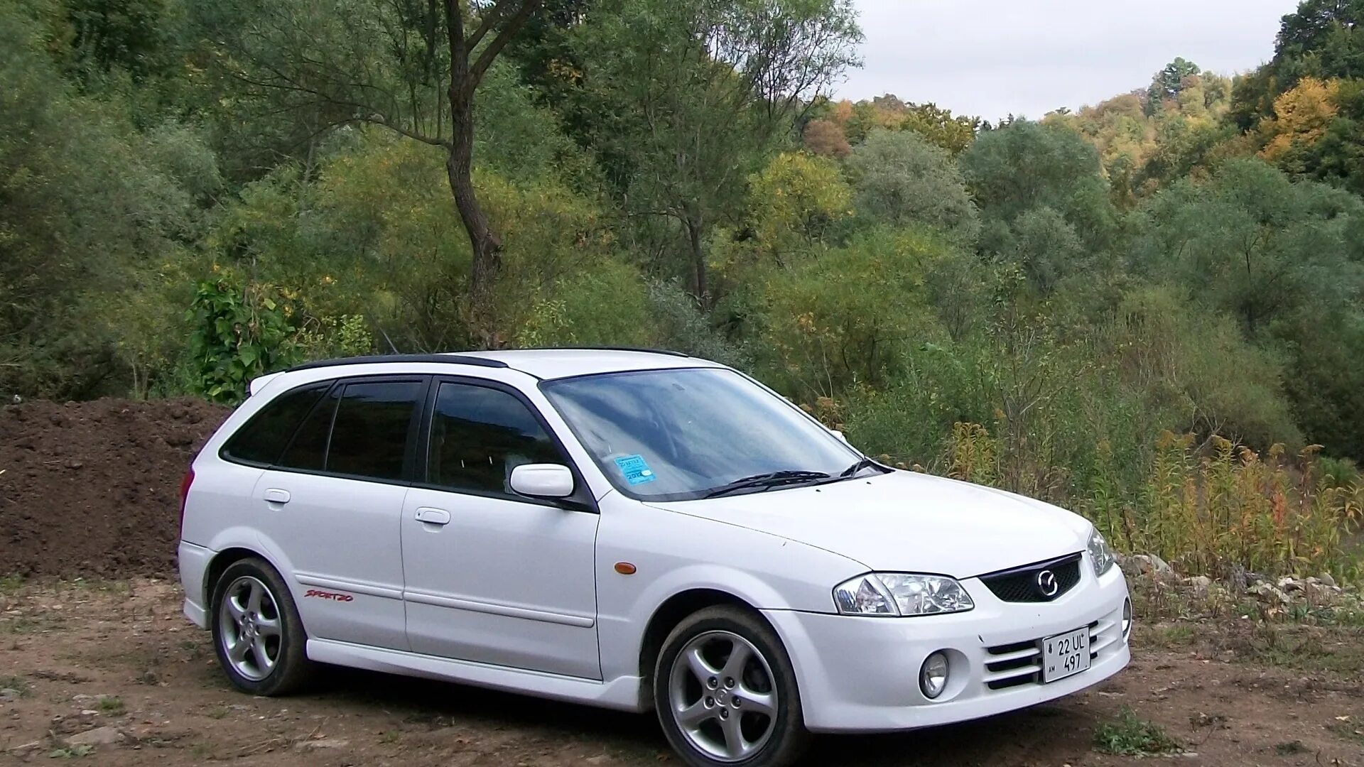
[[[979,580],[966,579],[962,584],[975,602],[966,613],[872,618],[765,610],[764,616],[791,655],[806,727],[908,730],[1026,708],[1093,686],[1127,666],[1127,581],[1118,568],[1094,577],[1087,558],[1083,570],[1075,588],[1045,603],[1001,602]],[[1084,626],[1090,626],[1090,667],[1049,684],[1037,681],[1041,656],[1027,658],[1030,643]],[[940,650],[949,658],[948,685],[930,700],[919,691],[919,669]]]

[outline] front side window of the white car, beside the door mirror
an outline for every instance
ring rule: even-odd
[[[428,482],[450,490],[512,493],[512,469],[567,464],[527,405],[487,386],[441,384],[431,419]]]

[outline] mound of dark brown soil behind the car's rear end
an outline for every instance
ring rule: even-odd
[[[0,411],[0,575],[172,576],[180,480],[231,412],[192,399]]]

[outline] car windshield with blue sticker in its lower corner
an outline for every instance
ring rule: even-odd
[[[686,501],[855,475],[862,456],[726,368],[608,373],[542,384],[622,493]]]

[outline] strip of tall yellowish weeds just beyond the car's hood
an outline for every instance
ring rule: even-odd
[[[1101,457],[1106,439],[1099,442]],[[947,444],[947,474],[997,484],[1043,500],[1052,483],[1016,479],[1007,439],[977,423],[958,423]],[[1016,463],[1016,461],[1013,461]],[[1109,542],[1133,553],[1159,554],[1180,572],[1225,577],[1236,570],[1322,573],[1352,579],[1364,560],[1352,535],[1364,521],[1364,483],[1316,448],[1290,454],[1282,445],[1264,453],[1211,437],[1163,433],[1143,476],[1124,479],[1120,461],[1099,460],[1076,510]],[[1031,467],[1049,476],[1054,468]],[[1009,478],[1015,479],[1009,479]],[[1135,482],[1135,484],[1133,484]]]

